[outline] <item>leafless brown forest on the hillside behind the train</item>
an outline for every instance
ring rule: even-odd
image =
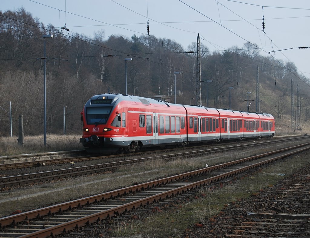
[[[67,133],[80,133],[80,112],[85,102],[95,94],[125,93],[125,58],[127,94],[152,97],[168,95],[177,103],[194,104],[196,85],[197,43],[184,49],[172,39],[153,35],[133,35],[125,38],[102,31],[93,37],[73,34],[53,25],[44,25],[25,9],[0,11],[0,135],[9,135],[9,103],[12,105],[13,134],[18,133],[18,117],[23,115],[24,134],[43,133],[43,70],[42,35],[46,39],[47,133],[63,133],[65,107]],[[206,105],[207,80],[209,107],[246,111],[246,101],[256,100],[256,70],[259,67],[260,111],[277,118],[291,115],[291,79],[297,109],[297,84],[300,89],[300,112],[307,120],[309,106],[308,79],[297,72],[294,63],[276,60],[262,54],[255,42],[242,47],[231,46],[226,51],[209,51],[200,45],[202,105]],[[307,86],[306,86],[307,85]],[[251,92],[251,94],[247,94]],[[255,102],[250,110],[255,112]]]

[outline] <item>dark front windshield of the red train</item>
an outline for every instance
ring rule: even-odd
[[[87,124],[106,124],[112,107],[88,107],[86,108]]]

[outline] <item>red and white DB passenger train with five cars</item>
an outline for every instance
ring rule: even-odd
[[[101,94],[82,114],[80,142],[87,152],[124,152],[153,146],[273,137],[275,121],[266,113],[171,104],[160,100]]]

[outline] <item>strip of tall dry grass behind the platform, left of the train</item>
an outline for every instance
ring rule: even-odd
[[[49,134],[44,146],[44,137],[25,136],[24,144],[18,144],[18,137],[0,137],[0,155],[18,155],[25,153],[39,153],[51,151],[67,151],[83,149],[80,143],[81,135],[55,135]]]

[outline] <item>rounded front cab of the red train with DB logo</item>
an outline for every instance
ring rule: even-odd
[[[128,146],[123,104],[122,96],[113,94],[95,95],[86,103],[80,142],[87,152],[112,153]]]

